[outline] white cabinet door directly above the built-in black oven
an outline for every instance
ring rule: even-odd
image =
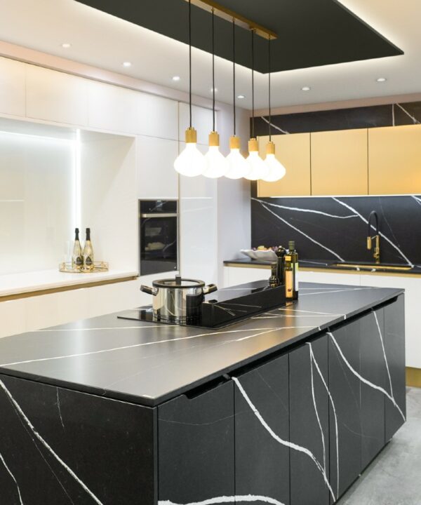
[[[137,138],[138,198],[178,198],[178,173],[174,160],[178,142],[140,135]]]

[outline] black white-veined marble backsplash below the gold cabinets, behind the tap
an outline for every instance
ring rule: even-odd
[[[416,195],[253,197],[252,246],[287,246],[295,240],[300,260],[371,262],[366,237],[372,210],[380,220],[382,262],[421,265],[421,196]]]

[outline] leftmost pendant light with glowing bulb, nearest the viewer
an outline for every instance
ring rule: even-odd
[[[185,134],[186,147],[174,161],[175,170],[181,175],[195,177],[206,169],[205,157],[197,149],[197,133],[192,127],[192,1],[189,0],[189,128]]]

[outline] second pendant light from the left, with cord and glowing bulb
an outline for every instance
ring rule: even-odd
[[[216,179],[222,177],[228,170],[228,163],[220,152],[219,134],[215,130],[215,12],[212,9],[212,115],[213,128],[209,134],[209,149],[205,155],[205,177]]]

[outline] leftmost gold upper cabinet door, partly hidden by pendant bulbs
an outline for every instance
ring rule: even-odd
[[[269,136],[259,137],[259,153],[266,157]],[[309,196],[310,134],[272,135],[276,147],[276,159],[286,168],[286,175],[276,182],[258,181],[258,196]]]

